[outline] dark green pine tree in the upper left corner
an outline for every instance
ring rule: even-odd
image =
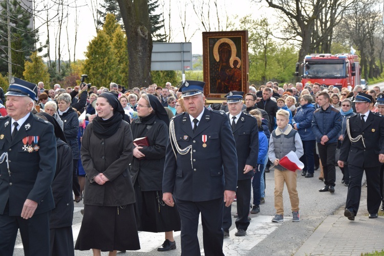
[[[36,51],[35,43],[38,41],[38,32],[37,30],[33,31],[33,29],[29,27],[32,14],[29,13],[23,5],[20,5],[19,1],[11,0],[9,9],[11,13],[11,46],[12,48],[15,47],[13,50],[18,51],[24,57],[21,59],[18,53],[12,51],[12,62],[19,65],[18,67],[13,66],[12,69],[15,70],[19,76],[23,73],[21,69],[24,67],[24,61],[33,51]],[[7,1],[1,1],[0,10],[0,38],[3,37],[3,39],[0,40],[0,48],[6,49],[5,47],[8,46]],[[15,44],[12,44],[13,42]],[[41,49],[37,50],[41,51]],[[0,52],[0,59],[2,59],[2,61],[0,61],[0,73],[3,75],[6,75],[8,72],[7,53],[8,51]]]

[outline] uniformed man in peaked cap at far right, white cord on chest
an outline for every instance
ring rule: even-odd
[[[357,115],[348,117],[337,164],[348,164],[349,186],[344,216],[355,220],[360,202],[361,178],[367,176],[369,218],[377,218],[381,203],[380,166],[384,163],[384,118],[369,110],[372,96],[358,93],[353,101]]]

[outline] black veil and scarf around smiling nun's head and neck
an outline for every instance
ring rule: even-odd
[[[124,120],[124,109],[117,98],[117,94],[102,93],[99,97],[105,98],[113,108],[113,116],[109,119],[103,120],[101,117],[96,116],[93,123],[93,132],[99,139],[109,138],[114,135],[119,129],[120,122]]]

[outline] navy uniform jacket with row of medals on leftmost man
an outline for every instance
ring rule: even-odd
[[[23,138],[28,136],[39,136],[38,151],[28,153],[23,149]],[[0,215],[8,200],[9,216],[20,216],[26,199],[38,203],[35,215],[52,210],[55,203],[51,183],[56,169],[53,125],[31,113],[11,140],[11,117],[0,117],[0,155],[5,152],[11,175],[4,160],[0,164]]]

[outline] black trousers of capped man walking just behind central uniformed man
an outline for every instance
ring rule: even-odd
[[[236,200],[238,218],[234,223],[237,229],[247,230],[249,226],[249,205],[251,203],[251,179],[238,180]],[[223,230],[226,232],[229,232],[229,228],[232,225],[231,208],[231,205],[229,207],[224,205]]]

